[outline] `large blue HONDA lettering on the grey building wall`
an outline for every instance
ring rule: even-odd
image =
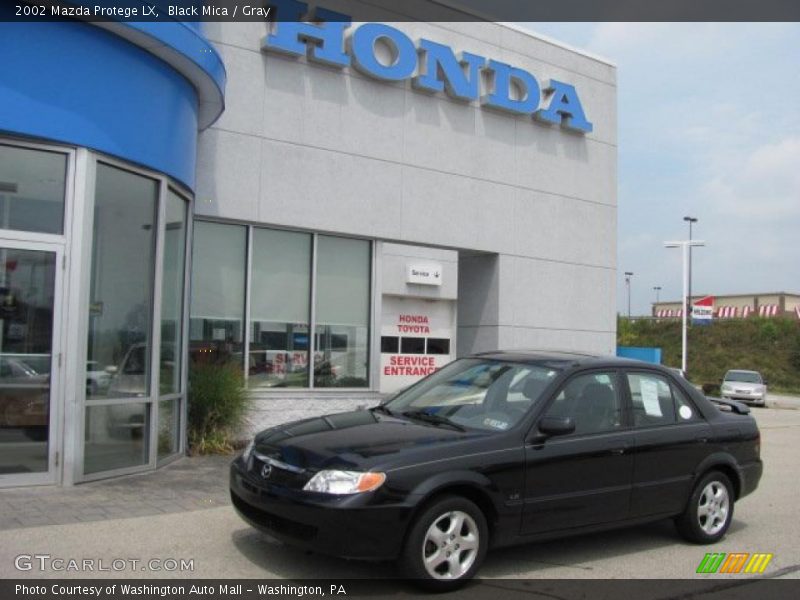
[[[272,3],[278,7],[280,22],[264,38],[264,51],[340,69],[353,67],[382,81],[410,80],[414,89],[428,94],[476,101],[485,108],[529,115],[576,133],[592,131],[578,92],[569,83],[555,79],[540,83],[520,67],[425,38],[414,41],[383,23],[351,27],[347,15],[319,7],[310,13],[305,2]]]

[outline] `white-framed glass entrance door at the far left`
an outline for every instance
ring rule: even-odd
[[[55,480],[60,256],[0,241],[0,486]]]

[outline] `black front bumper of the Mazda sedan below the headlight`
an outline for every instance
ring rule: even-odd
[[[370,504],[370,494],[325,497],[270,486],[230,467],[231,502],[247,523],[287,544],[343,558],[392,560],[402,549],[412,505]]]

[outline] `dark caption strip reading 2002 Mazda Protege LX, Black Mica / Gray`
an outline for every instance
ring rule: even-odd
[[[800,21],[797,0],[0,0],[0,20]],[[322,12],[316,8],[322,9]]]

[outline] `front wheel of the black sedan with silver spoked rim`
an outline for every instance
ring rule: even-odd
[[[488,545],[489,527],[481,509],[461,496],[442,496],[414,521],[400,566],[421,587],[450,591],[472,579]]]

